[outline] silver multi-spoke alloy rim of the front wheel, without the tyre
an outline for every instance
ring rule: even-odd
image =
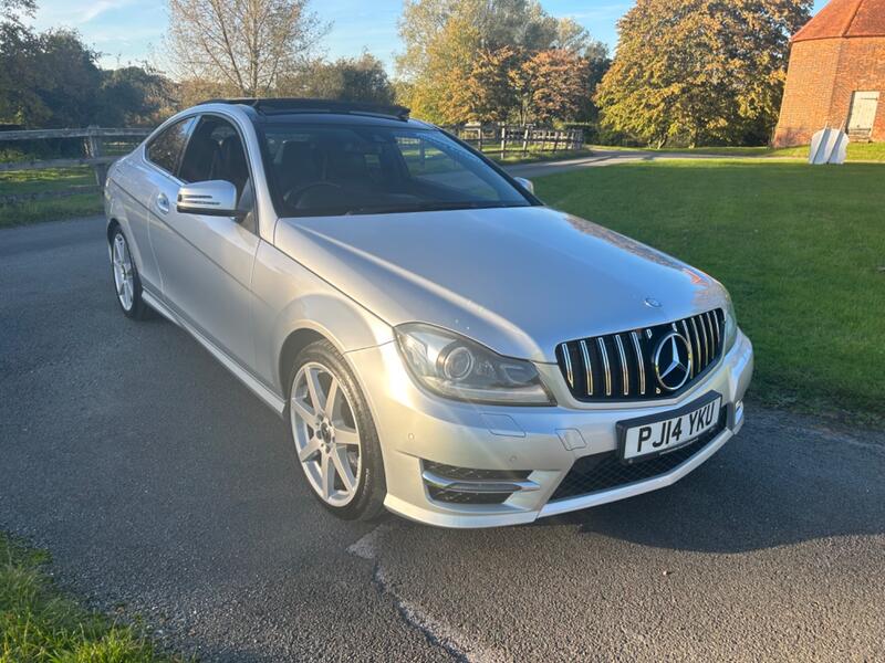
[[[295,450],[316,494],[342,507],[360,487],[362,444],[341,380],[319,362],[302,366],[292,382],[290,413]]]

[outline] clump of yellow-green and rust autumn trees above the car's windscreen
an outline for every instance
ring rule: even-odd
[[[406,0],[399,34],[399,98],[442,124],[571,118],[592,107],[590,61],[607,63],[604,45],[537,0]],[[543,76],[566,62],[565,81]]]

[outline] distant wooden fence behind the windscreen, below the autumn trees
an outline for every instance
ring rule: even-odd
[[[504,157],[508,150],[527,155],[531,149],[555,152],[581,149],[584,145],[583,129],[502,124],[458,125],[446,129],[480,150],[500,150],[501,157]]]

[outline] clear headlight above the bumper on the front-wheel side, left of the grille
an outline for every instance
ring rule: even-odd
[[[400,325],[396,338],[412,375],[439,396],[496,404],[553,402],[531,361],[501,357],[459,334],[419,323]]]

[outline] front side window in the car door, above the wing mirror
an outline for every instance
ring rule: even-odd
[[[201,117],[188,141],[178,177],[186,182],[226,180],[242,197],[249,181],[249,166],[237,129],[220,117]]]

